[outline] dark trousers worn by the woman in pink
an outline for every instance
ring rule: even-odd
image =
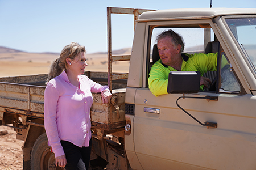
[[[68,141],[60,141],[66,159],[66,170],[86,170],[89,169],[90,151],[92,150],[92,140],[88,147],[79,147]]]

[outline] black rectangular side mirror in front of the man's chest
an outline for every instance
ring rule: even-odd
[[[169,94],[197,93],[199,88],[199,71],[170,71],[167,86]]]

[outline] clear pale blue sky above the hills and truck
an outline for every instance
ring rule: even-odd
[[[60,53],[79,42],[88,53],[107,51],[106,7],[163,10],[209,8],[210,0],[0,0],[0,46],[26,52]],[[213,7],[256,8],[255,0],[212,0]],[[133,15],[112,14],[112,49],[133,43]]]

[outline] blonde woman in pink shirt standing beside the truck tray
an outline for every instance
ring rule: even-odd
[[[91,151],[90,107],[92,92],[101,92],[102,102],[112,94],[108,86],[84,74],[85,47],[72,42],[52,63],[44,92],[44,126],[56,166],[88,169]],[[67,164],[67,165],[66,165]]]

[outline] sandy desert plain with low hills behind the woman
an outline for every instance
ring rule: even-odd
[[[130,48],[131,49],[131,48]],[[113,51],[114,54],[130,54],[128,49]],[[0,77],[48,74],[51,63],[58,58],[58,53],[28,53],[22,50],[0,47]],[[108,55],[87,54],[88,57],[86,71],[108,71]],[[112,69],[115,72],[127,73],[129,71],[129,61],[114,62]]]

